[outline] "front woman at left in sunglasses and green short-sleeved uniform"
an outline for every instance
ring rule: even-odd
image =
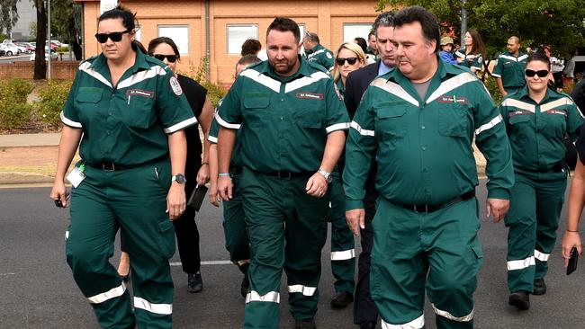
[[[99,325],[171,328],[171,220],[185,209],[183,129],[197,120],[173,72],[132,45],[134,29],[134,14],[121,7],[98,20],[102,54],[81,63],[61,112],[65,125],[50,198],[70,206],[67,263]],[[85,178],[69,204],[64,180],[79,141],[74,173]],[[119,227],[132,259],[134,312],[108,261]]]

